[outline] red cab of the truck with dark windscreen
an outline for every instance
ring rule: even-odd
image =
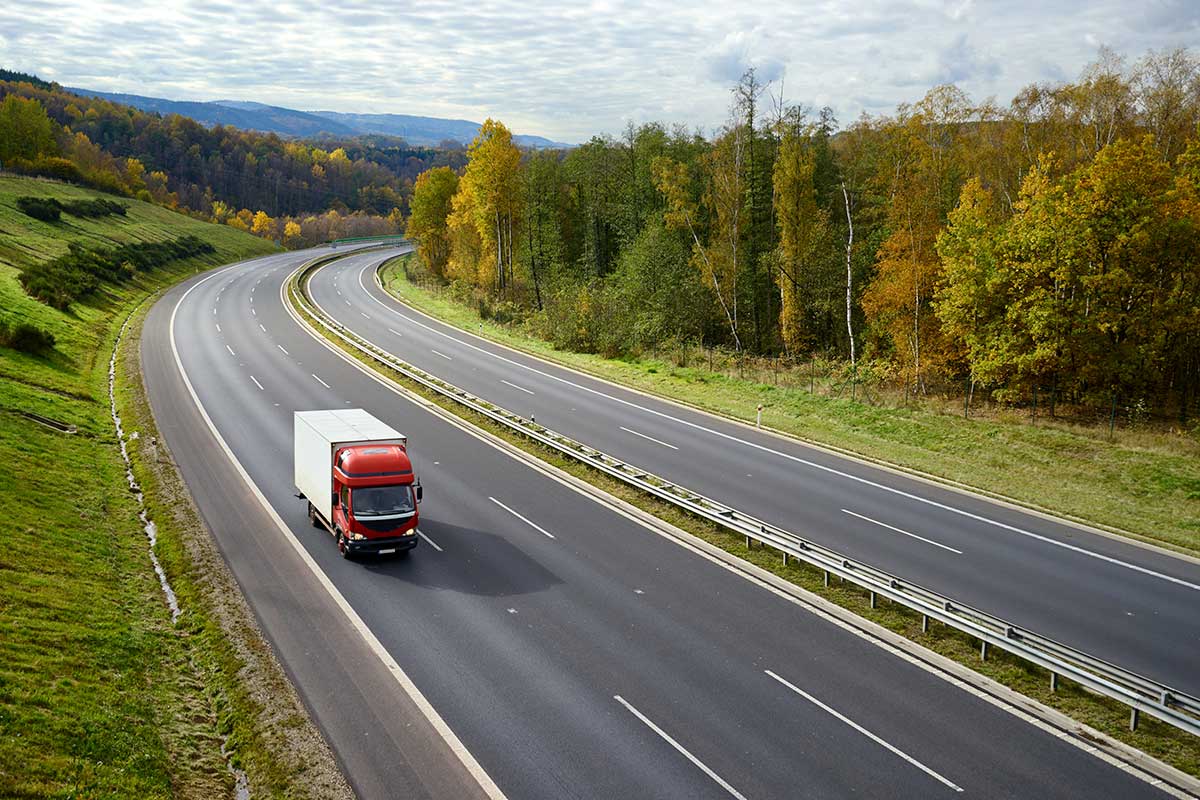
[[[421,486],[403,445],[342,447],[334,456],[332,523],[343,554],[408,551],[416,545]],[[347,551],[349,551],[347,553]]]

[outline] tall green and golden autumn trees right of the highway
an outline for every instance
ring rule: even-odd
[[[1102,49],[1007,106],[936,86],[841,127],[748,71],[710,136],[522,152],[488,120],[415,181],[430,279],[557,345],[844,359],[922,393],[1120,396],[1200,378],[1200,62]]]

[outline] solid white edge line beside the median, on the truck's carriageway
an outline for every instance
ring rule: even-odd
[[[293,270],[292,275],[295,272],[296,270]],[[979,699],[992,708],[1000,709],[1006,714],[1010,714],[1026,724],[1030,724],[1038,730],[1070,745],[1072,747],[1081,750],[1088,756],[1132,775],[1144,783],[1162,788],[1172,796],[1180,798],[1181,800],[1200,800],[1200,793],[1189,793],[1180,789],[1174,783],[1163,781],[1163,778],[1158,777],[1154,771],[1139,763],[1139,758],[1145,758],[1148,762],[1163,765],[1162,762],[1158,762],[1152,756],[1147,756],[1142,751],[1135,750],[1132,746],[1129,746],[1129,748],[1134,751],[1133,756],[1128,753],[1120,756],[1114,754],[1106,748],[1114,746],[1120,748],[1124,745],[1121,745],[1121,742],[1116,742],[1115,740],[1105,740],[1104,734],[1094,728],[1069,718],[1062,712],[1055,711],[1049,706],[1043,706],[1037,700],[1032,700],[1032,705],[1030,705],[1027,696],[1019,694],[1015,690],[1008,688],[991,678],[985,678],[980,673],[971,670],[968,667],[964,667],[955,661],[950,661],[949,658],[929,650],[928,648],[905,639],[900,637],[900,634],[893,633],[888,628],[878,626],[876,622],[870,622],[853,612],[824,600],[820,595],[814,595],[794,584],[788,584],[785,590],[784,588],[772,583],[773,581],[782,581],[781,578],[776,578],[772,573],[760,575],[757,572],[760,567],[756,567],[743,559],[732,557],[725,551],[718,549],[714,545],[709,545],[704,540],[697,539],[691,534],[670,525],[668,523],[664,523],[662,521],[655,518],[654,524],[650,524],[647,519],[649,515],[632,506],[625,507],[624,500],[619,500],[605,493],[602,489],[587,483],[582,479],[574,477],[569,473],[564,473],[556,467],[551,467],[550,464],[536,459],[534,456],[530,456],[522,450],[517,450],[514,445],[504,441],[503,439],[497,439],[492,434],[482,432],[480,428],[466,422],[458,416],[455,416],[450,411],[430,403],[424,397],[401,387],[398,384],[384,378],[382,374],[374,372],[358,359],[350,357],[347,353],[335,347],[325,337],[307,327],[304,324],[304,320],[287,303],[284,288],[286,284],[280,285],[280,302],[283,305],[284,311],[288,312],[288,315],[292,317],[292,320],[298,327],[300,327],[300,330],[306,332],[314,342],[323,345],[330,353],[346,361],[346,363],[355,367],[366,377],[389,389],[397,397],[403,397],[415,405],[426,408],[426,410],[445,422],[458,427],[464,433],[475,437],[484,444],[508,455],[510,458],[524,464],[529,469],[557,481],[581,497],[588,498],[593,503],[610,509],[614,513],[641,525],[647,531],[656,536],[661,536],[694,555],[698,555],[700,558],[712,563],[716,567],[736,575],[743,581],[748,581],[749,583],[752,583],[754,585],[775,595],[785,602],[790,602],[810,614],[820,616],[826,622],[834,625],[852,636],[857,636],[859,639],[887,651],[892,656],[900,658],[901,661],[905,661],[906,663],[910,663],[930,675],[944,680],[959,691],[966,692],[976,699]],[[317,306],[320,307],[320,303],[317,303]],[[1103,748],[1091,744],[1088,739],[1085,739],[1085,735],[1097,736],[1097,741],[1104,742]]]

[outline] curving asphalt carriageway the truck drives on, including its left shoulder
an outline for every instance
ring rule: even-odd
[[[401,398],[283,309],[307,255],[176,287],[143,363],[206,522],[361,796],[468,796],[470,781],[239,486],[172,327],[238,462],[510,798],[1162,796]],[[293,410],[349,405],[410,435],[427,541],[407,560],[341,560],[293,497]]]

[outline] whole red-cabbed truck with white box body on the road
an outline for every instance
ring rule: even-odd
[[[342,558],[416,547],[421,483],[404,435],[362,409],[296,411],[294,444],[308,521],[334,534]]]

